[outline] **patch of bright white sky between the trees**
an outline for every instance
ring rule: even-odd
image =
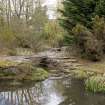
[[[45,3],[43,5],[46,5],[48,8],[47,15],[49,16],[49,19],[56,19],[56,7],[57,7],[57,0],[45,0]]]

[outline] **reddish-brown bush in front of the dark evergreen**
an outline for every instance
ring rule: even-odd
[[[92,61],[97,61],[101,59],[105,50],[105,21],[96,16],[92,23],[93,28],[90,30],[77,24],[72,31],[76,40],[75,44],[81,55]]]

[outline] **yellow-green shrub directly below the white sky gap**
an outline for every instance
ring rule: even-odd
[[[64,33],[57,21],[52,20],[45,25],[45,40],[52,47],[62,46]]]

